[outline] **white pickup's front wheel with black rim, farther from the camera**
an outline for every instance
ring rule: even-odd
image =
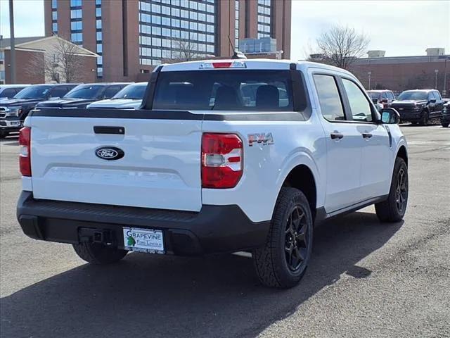
[[[389,223],[402,220],[408,204],[408,192],[408,167],[403,158],[397,157],[389,195],[385,201],[375,204],[378,219]]]

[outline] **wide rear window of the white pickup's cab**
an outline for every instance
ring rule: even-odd
[[[153,108],[293,111],[291,82],[289,70],[161,72]]]

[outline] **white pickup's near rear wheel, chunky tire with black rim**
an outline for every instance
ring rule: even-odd
[[[312,225],[306,196],[299,189],[283,187],[266,244],[253,252],[255,270],[262,284],[287,289],[300,282],[311,256]]]

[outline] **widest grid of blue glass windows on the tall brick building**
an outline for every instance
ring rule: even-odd
[[[139,0],[140,63],[214,55],[216,6],[214,0]]]

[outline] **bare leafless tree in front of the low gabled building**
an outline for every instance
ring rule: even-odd
[[[27,73],[30,75],[42,74],[44,71],[46,80],[54,82],[76,82],[83,77],[84,56],[79,54],[75,44],[56,39],[50,49],[44,52],[44,58],[35,54],[30,60]]]

